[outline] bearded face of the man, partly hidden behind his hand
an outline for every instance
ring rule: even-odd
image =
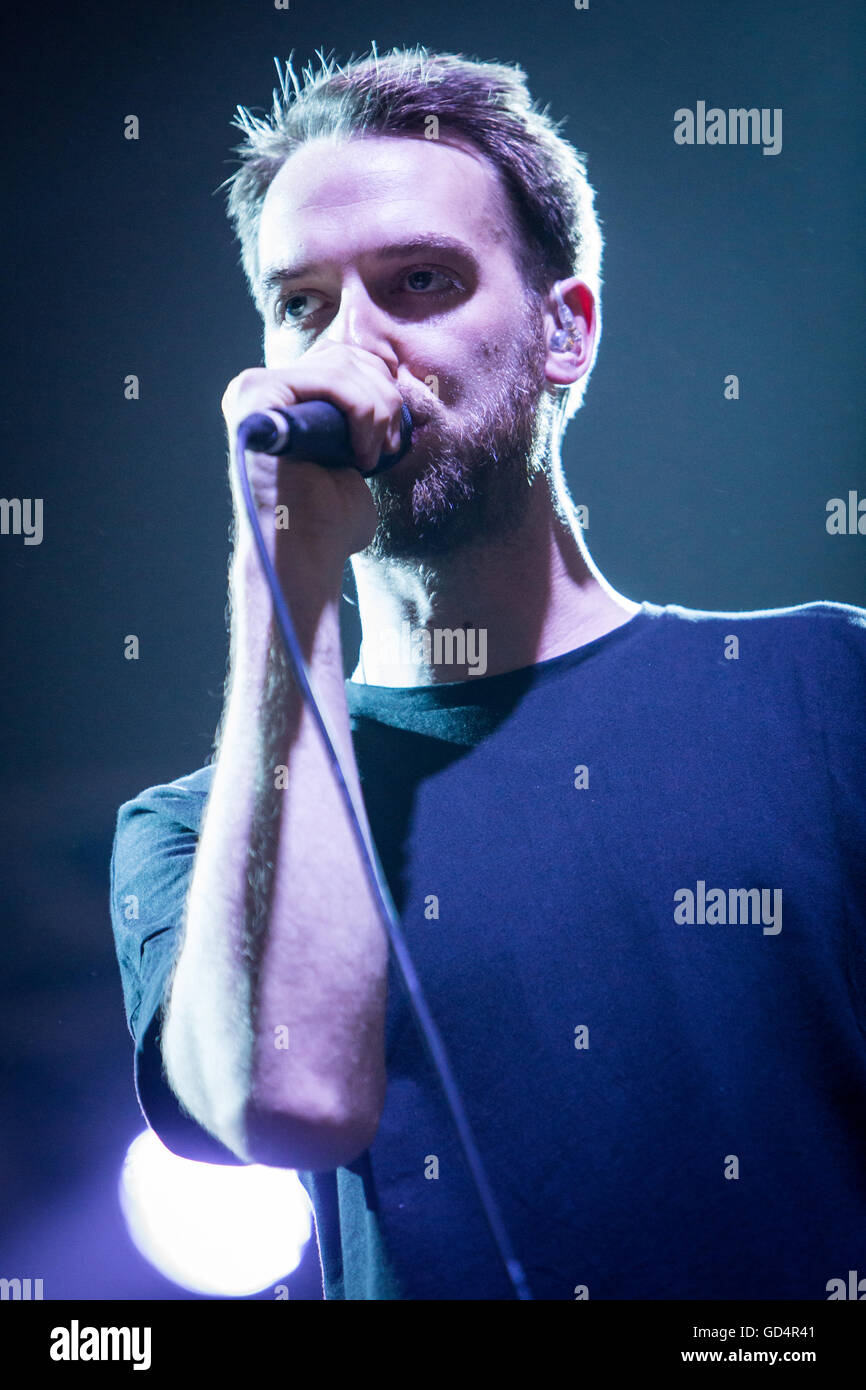
[[[268,367],[322,336],[396,366],[416,431],[368,480],[366,553],[423,562],[514,528],[542,466],[546,350],[493,167],[445,139],[311,140],[268,189],[259,265],[261,284],[297,271],[260,292]]]

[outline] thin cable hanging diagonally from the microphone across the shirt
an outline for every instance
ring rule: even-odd
[[[406,407],[403,407],[405,418],[406,414],[407,414]],[[235,450],[234,450],[235,473],[238,477],[238,484],[240,486],[240,495],[246,506],[249,523],[253,530],[253,537],[256,539],[256,549],[259,550],[261,569],[268,589],[271,592],[271,599],[274,602],[277,626],[279,628],[279,635],[285,646],[286,657],[289,660],[289,666],[292,669],[292,674],[300,691],[302,699],[307,706],[310,714],[313,716],[318,733],[321,734],[321,739],[325,746],[331,770],[334,773],[341,795],[346,805],[346,813],[352,824],[352,831],[357,842],[367,881],[373,891],[374,902],[377,905],[382,926],[388,933],[388,940],[393,951],[400,981],[409,998],[411,1012],[414,1013],[416,1024],[418,1027],[421,1038],[424,1040],[430,1059],[439,1077],[439,1083],[442,1086],[442,1091],[445,1094],[445,1099],[450,1111],[450,1116],[455,1123],[460,1145],[463,1148],[463,1155],[466,1158],[470,1175],[473,1177],[473,1183],[478,1194],[478,1201],[481,1202],[481,1208],[484,1211],[484,1216],[487,1219],[491,1236],[493,1237],[493,1243],[505,1266],[509,1283],[514,1290],[514,1297],[523,1301],[532,1301],[532,1294],[530,1291],[530,1286],[527,1283],[523,1265],[517,1259],[517,1255],[514,1254],[514,1250],[512,1247],[509,1233],[505,1227],[505,1223],[499,1212],[499,1207],[496,1205],[493,1193],[488,1183],[487,1173],[481,1162],[481,1155],[475,1145],[475,1140],[473,1138],[473,1133],[470,1130],[470,1125],[466,1118],[466,1111],[463,1108],[463,1101],[460,1098],[460,1093],[457,1090],[457,1084],[455,1081],[450,1063],[445,1052],[445,1045],[439,1036],[439,1030],[432,1019],[432,1015],[427,1006],[427,1001],[421,991],[421,984],[416,974],[411,956],[409,955],[409,948],[406,947],[406,941],[403,938],[400,922],[398,917],[398,910],[393,898],[391,895],[391,888],[388,887],[388,883],[385,880],[385,873],[379,862],[378,851],[375,848],[375,844],[373,842],[373,834],[370,835],[370,838],[367,838],[364,833],[363,815],[354,805],[354,796],[352,788],[346,781],[346,776],[343,773],[339,755],[336,752],[336,748],[334,746],[334,739],[331,737],[328,720],[316,698],[310,671],[307,669],[307,663],[304,660],[300,644],[297,641],[297,635],[295,632],[295,624],[292,623],[289,606],[285,594],[282,591],[282,585],[277,578],[274,566],[271,564],[271,557],[267,552],[264,537],[261,535],[259,517],[256,514],[256,505],[253,502],[253,495],[250,489],[250,481],[246,471],[247,439],[252,434],[256,434],[256,427],[253,421],[256,421],[256,417],[247,417],[247,420],[242,420],[238,427],[235,435]]]

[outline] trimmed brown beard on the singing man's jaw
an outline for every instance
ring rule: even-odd
[[[420,466],[367,480],[378,510],[370,559],[431,562],[478,537],[513,532],[534,481],[549,466],[553,404],[545,393],[541,306],[527,299],[518,336],[493,378],[459,420],[427,423]],[[406,402],[411,410],[413,402]]]

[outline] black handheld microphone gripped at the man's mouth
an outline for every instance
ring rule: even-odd
[[[411,448],[411,416],[402,407],[400,448],[396,453],[379,455],[373,473],[393,468]],[[329,400],[303,400],[279,410],[263,410],[247,416],[238,427],[243,431],[246,449],[254,453],[277,455],[281,459],[304,459],[325,468],[357,468],[349,439],[349,423]],[[370,478],[373,474],[366,473]]]

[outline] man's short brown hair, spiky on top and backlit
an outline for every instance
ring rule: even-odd
[[[292,58],[274,90],[270,117],[239,106],[232,125],[245,133],[235,147],[240,167],[225,181],[228,215],[240,242],[243,270],[259,304],[259,222],[267,190],[286,158],[318,136],[424,136],[430,129],[460,136],[492,163],[513,215],[513,252],[530,296],[538,302],[555,279],[578,275],[599,307],[602,231],[585,156],[563,139],[546,107],[531,100],[517,65],[480,63],[421,44],[350,60],[341,67],[317,50],[300,86]],[[289,81],[292,90],[289,90]],[[435,117],[438,124],[430,124]],[[514,235],[516,234],[516,235]],[[261,309],[261,306],[259,306]],[[594,361],[589,364],[592,370]],[[560,399],[564,425],[582,403],[589,371]]]

